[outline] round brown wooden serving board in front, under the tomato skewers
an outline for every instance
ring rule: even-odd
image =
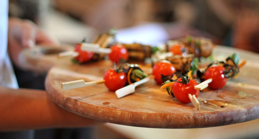
[[[71,112],[88,118],[121,125],[149,128],[202,128],[230,125],[259,118],[259,56],[248,51],[218,46],[216,58],[226,58],[233,52],[240,55],[241,61],[248,63],[240,70],[237,78],[229,79],[220,90],[206,88],[198,100],[200,110],[192,103],[181,103],[170,97],[160,85],[149,81],[136,87],[133,94],[117,99],[113,91],[104,84],[71,90],[61,89],[61,83],[84,79],[102,79],[111,68],[110,61],[90,62],[84,65],[73,64],[60,59],[48,72],[46,90],[55,103]],[[150,72],[150,68],[143,68]],[[211,104],[202,101],[207,100]],[[222,106],[222,107],[220,107]]]

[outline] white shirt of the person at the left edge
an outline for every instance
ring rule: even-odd
[[[0,0],[0,85],[18,88],[14,70],[7,52],[8,0]]]

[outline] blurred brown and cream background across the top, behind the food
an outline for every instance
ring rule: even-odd
[[[121,42],[156,45],[193,35],[259,52],[257,0],[10,0],[9,9],[61,43],[116,28]]]

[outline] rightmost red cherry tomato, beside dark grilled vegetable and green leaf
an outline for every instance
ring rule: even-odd
[[[221,89],[226,85],[227,78],[224,75],[224,67],[219,65],[213,65],[205,72],[204,79],[212,78],[212,82],[209,83],[209,87],[212,89]]]

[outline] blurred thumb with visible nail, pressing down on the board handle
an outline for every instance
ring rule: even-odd
[[[22,22],[21,27],[21,45],[24,48],[32,48],[35,44],[37,27],[36,25],[28,20]]]

